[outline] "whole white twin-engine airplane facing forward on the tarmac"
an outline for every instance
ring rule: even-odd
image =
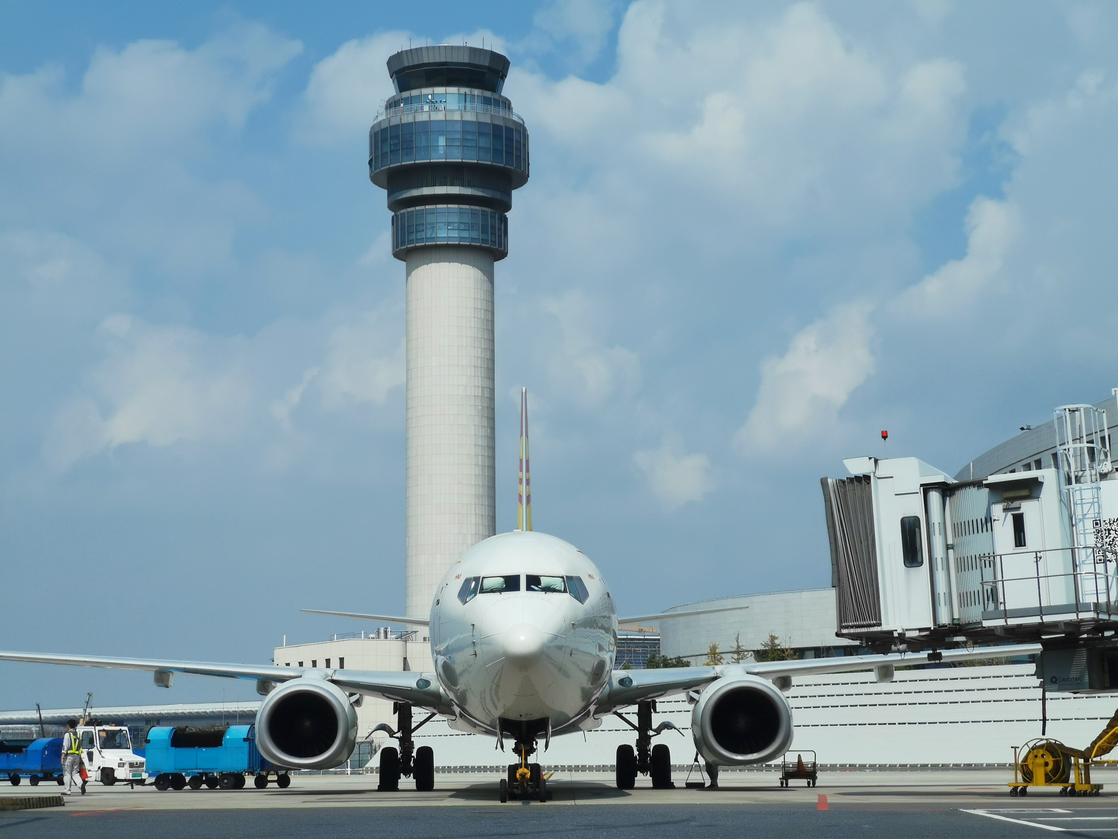
[[[916,653],[847,656],[792,661],[743,661],[705,667],[615,670],[618,623],[671,620],[724,609],[618,619],[613,591],[581,550],[531,529],[527,446],[527,394],[521,395],[520,529],[492,536],[451,566],[436,588],[427,619],[303,610],[388,621],[429,631],[433,672],[363,671],[277,664],[227,664],[158,659],[0,652],[0,660],[148,670],[170,687],[174,673],[255,679],[264,696],[256,717],[260,755],[292,770],[332,769],[353,752],[354,707],[364,696],[394,703],[397,726],[378,726],[398,742],[380,750],[378,789],[397,790],[401,776],[416,789],[435,785],[429,746],[413,735],[436,716],[461,732],[511,744],[517,763],[500,780],[501,801],[547,800],[540,764],[529,762],[543,741],[597,728],[616,715],[636,733],[635,747],[617,748],[615,781],[633,789],[646,774],[669,789],[671,755],[652,745],[671,723],[653,725],[655,700],[686,694],[691,734],[712,784],[719,766],[767,763],[788,751],[792,708],[785,697],[797,676],[878,668],[882,680],[898,664],[966,661],[1039,653],[1040,644]],[[636,722],[620,711],[636,707]],[[414,709],[427,716],[417,725]]]

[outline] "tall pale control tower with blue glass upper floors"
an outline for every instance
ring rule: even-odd
[[[528,131],[501,95],[509,59],[416,47],[388,59],[396,93],[369,130],[407,264],[407,614],[426,616],[462,552],[496,532],[493,263],[509,253]]]

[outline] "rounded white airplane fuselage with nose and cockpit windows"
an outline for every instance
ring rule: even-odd
[[[617,613],[601,572],[572,545],[541,532],[493,536],[443,577],[430,612],[439,684],[463,730],[515,723],[598,725],[590,711],[617,649]],[[546,720],[546,723],[541,723]]]

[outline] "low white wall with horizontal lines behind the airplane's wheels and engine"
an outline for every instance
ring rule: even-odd
[[[793,750],[815,750],[824,764],[1006,764],[1013,746],[1041,734],[1041,689],[1033,664],[901,670],[887,685],[872,673],[813,676],[788,691],[793,708]],[[1049,695],[1048,736],[1084,747],[1110,719],[1118,695]],[[691,708],[682,697],[661,700],[655,719],[670,719],[684,736],[666,732],[655,742],[672,750],[672,762],[694,755]],[[419,741],[423,741],[419,743]],[[616,717],[601,728],[557,737],[546,766],[613,766],[617,746],[634,743]],[[458,734],[430,723],[417,743],[435,748],[438,766],[496,766],[511,752],[494,751],[494,739]],[[542,743],[540,744],[542,747]]]

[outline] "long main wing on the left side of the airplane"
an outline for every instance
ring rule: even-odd
[[[106,667],[113,670],[148,670],[149,672],[219,676],[228,679],[255,679],[282,682],[301,676],[316,675],[342,690],[406,701],[440,714],[453,713],[451,703],[438,686],[434,673],[380,670],[335,670],[276,664],[225,664],[207,661],[169,661],[162,659],[126,659],[110,656],[60,656],[44,652],[0,652],[0,661],[34,661],[42,664],[76,664]],[[265,691],[266,692],[266,691]]]

